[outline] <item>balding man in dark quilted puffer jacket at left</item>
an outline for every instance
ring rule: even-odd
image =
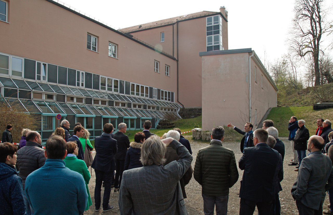
[[[41,135],[36,131],[29,131],[26,136],[27,145],[17,151],[19,154],[17,156],[16,165],[18,166],[19,176],[22,178],[23,190],[25,187],[25,179],[27,176],[44,166],[45,155],[44,149],[42,149],[42,139]],[[30,208],[28,199],[24,193],[24,201],[27,207],[27,214],[34,214],[32,208]]]

